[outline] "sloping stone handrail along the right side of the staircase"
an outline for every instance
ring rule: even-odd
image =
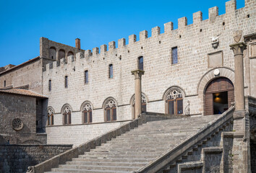
[[[187,149],[209,136],[210,133],[223,125],[223,123],[226,123],[228,120],[230,120],[233,117],[233,112],[234,105],[229,107],[229,110],[227,110],[226,112],[223,112],[223,114],[218,117],[218,119],[208,123],[199,131],[197,131],[196,134],[192,134],[192,136],[187,138],[184,142],[177,144],[176,146],[174,146],[174,148],[170,148],[164,154],[162,154],[155,160],[150,161],[150,163],[146,164],[144,167],[138,169],[134,173],[153,173],[167,167],[167,165],[170,164],[171,161],[174,161],[174,159],[180,156],[184,151],[187,151]]]

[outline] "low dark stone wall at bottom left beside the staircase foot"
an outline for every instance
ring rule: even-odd
[[[0,172],[26,172],[27,167],[51,159],[72,145],[0,145]]]

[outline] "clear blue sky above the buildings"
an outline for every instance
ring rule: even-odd
[[[236,0],[236,8],[244,0]],[[184,1],[48,1],[0,0],[0,67],[18,65],[39,56],[39,39],[48,37],[59,43],[74,46],[81,39],[81,48],[88,50],[142,30],[161,27],[180,17],[192,23],[192,14],[201,11],[208,19],[208,9],[218,6],[225,13],[225,0]]]

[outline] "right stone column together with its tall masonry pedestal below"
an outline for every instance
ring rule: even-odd
[[[244,59],[243,51],[247,45],[243,42],[230,45],[234,52],[235,84],[232,169],[233,172],[250,172],[249,152],[249,115],[244,107]]]

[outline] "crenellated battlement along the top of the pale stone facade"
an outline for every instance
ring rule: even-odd
[[[253,6],[252,1],[246,0],[245,6]],[[251,8],[252,9],[252,8]],[[239,13],[238,13],[239,11]],[[147,48],[150,43],[159,42],[163,40],[165,37],[168,37],[172,42],[179,42],[181,39],[186,39],[185,33],[193,32],[194,35],[198,35],[200,37],[200,32],[209,32],[208,34],[212,37],[216,37],[218,33],[214,33],[214,31],[208,31],[207,28],[210,25],[218,25],[218,27],[222,27],[226,23],[226,25],[230,25],[229,21],[232,17],[236,17],[237,14],[245,15],[245,8],[236,9],[236,0],[231,0],[226,2],[226,13],[221,16],[218,15],[218,6],[213,6],[208,9],[209,19],[202,20],[202,12],[195,12],[192,14],[192,24],[187,25],[187,17],[181,17],[178,19],[178,28],[174,30],[174,23],[167,22],[164,24],[164,32],[161,33],[161,27],[153,27],[151,29],[151,37],[148,37],[148,31],[143,30],[140,32],[140,40],[137,40],[137,35],[129,35],[128,43],[126,43],[125,38],[121,38],[118,40],[117,48],[116,42],[111,41],[107,45],[101,45],[100,48],[96,47],[93,50],[79,50],[72,56],[66,56],[60,59],[60,64],[72,63],[74,61],[86,61],[86,63],[92,63],[89,60],[99,60],[107,58],[112,58],[114,61],[117,61],[116,55],[121,55],[127,52],[127,50],[131,51],[135,49],[143,48],[144,46]],[[237,14],[236,14],[237,13]],[[189,39],[189,38],[187,38]],[[160,44],[161,42],[159,42]],[[60,44],[60,43],[59,43]],[[129,56],[129,55],[127,55]],[[73,58],[72,58],[73,57]],[[101,57],[101,58],[99,58]],[[53,68],[58,67],[58,63],[54,63]],[[46,66],[46,70],[51,69],[51,66]]]

